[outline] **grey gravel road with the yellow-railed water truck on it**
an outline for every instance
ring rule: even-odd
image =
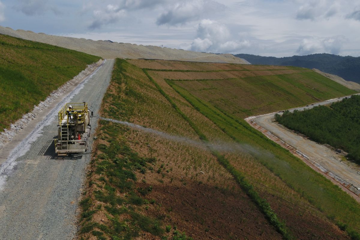
[[[54,154],[57,112],[67,102],[86,101],[94,112],[91,122],[94,132],[113,64],[114,60],[106,60],[78,85],[8,158],[16,165],[1,173],[7,176],[0,186],[0,239],[65,240],[75,236],[78,201],[93,140],[90,139],[90,149],[85,154],[57,159]]]

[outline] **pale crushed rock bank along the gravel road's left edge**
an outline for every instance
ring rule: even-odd
[[[77,76],[75,76],[72,80],[67,81],[57,90],[51,92],[49,96],[44,101],[41,101],[38,105],[34,105],[34,109],[31,112],[24,114],[21,119],[11,124],[10,128],[5,128],[4,132],[0,133],[0,149],[3,148],[7,142],[11,141],[14,136],[19,131],[21,131],[23,127],[25,127],[31,120],[35,119],[42,112],[42,110],[49,107],[51,103],[62,96],[70,86],[75,85],[76,82],[86,77],[89,73],[93,72],[94,69],[102,64],[102,62],[103,59],[100,59],[96,63],[87,65],[86,69],[77,74]]]

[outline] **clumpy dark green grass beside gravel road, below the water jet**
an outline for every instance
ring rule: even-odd
[[[81,201],[83,212],[80,233],[91,232],[94,236],[98,236],[99,231],[92,230],[99,228],[102,230],[101,235],[112,239],[133,239],[139,236],[140,231],[162,236],[165,232],[162,223],[158,219],[144,216],[134,208],[134,206],[144,205],[143,195],[146,195],[144,189],[134,187],[136,181],[134,170],[141,172],[143,168],[148,169],[156,159],[141,158],[138,153],[131,150],[126,138],[121,137],[129,130],[127,127],[107,121],[100,121],[100,126],[100,132],[109,139],[109,145],[98,145],[101,154],[91,162],[91,165],[96,166],[94,173],[102,176],[98,180],[104,184],[98,184],[100,189],[94,191],[93,196],[103,203],[104,207],[94,209],[95,206],[90,197]],[[145,174],[146,171],[142,173]],[[151,189],[150,186],[146,191],[151,191],[149,189]],[[118,193],[125,193],[125,197],[118,196]],[[89,210],[91,207],[93,210]],[[91,222],[91,215],[99,210],[105,212],[109,220],[108,225],[101,226]],[[129,218],[123,219],[121,217],[123,215]]]

